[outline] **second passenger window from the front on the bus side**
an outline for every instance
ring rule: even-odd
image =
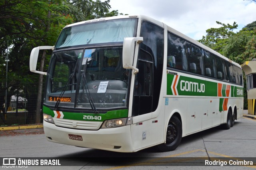
[[[204,60],[200,48],[187,43],[190,72],[204,75]]]

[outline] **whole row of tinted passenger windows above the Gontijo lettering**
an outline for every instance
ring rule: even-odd
[[[243,85],[242,70],[218,55],[169,32],[167,47],[167,67]]]

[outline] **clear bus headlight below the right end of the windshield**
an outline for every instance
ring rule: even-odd
[[[115,128],[132,124],[132,118],[111,119],[103,122],[101,128]]]

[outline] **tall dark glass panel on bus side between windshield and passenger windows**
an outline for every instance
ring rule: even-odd
[[[143,42],[140,43],[137,63],[139,72],[135,77],[133,116],[156,110],[162,82],[164,29],[143,22],[141,36]]]

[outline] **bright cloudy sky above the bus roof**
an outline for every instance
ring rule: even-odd
[[[104,1],[104,0],[102,0]],[[110,0],[112,10],[142,14],[164,22],[195,40],[206,36],[216,21],[238,24],[238,29],[256,21],[256,2],[250,0]]]

